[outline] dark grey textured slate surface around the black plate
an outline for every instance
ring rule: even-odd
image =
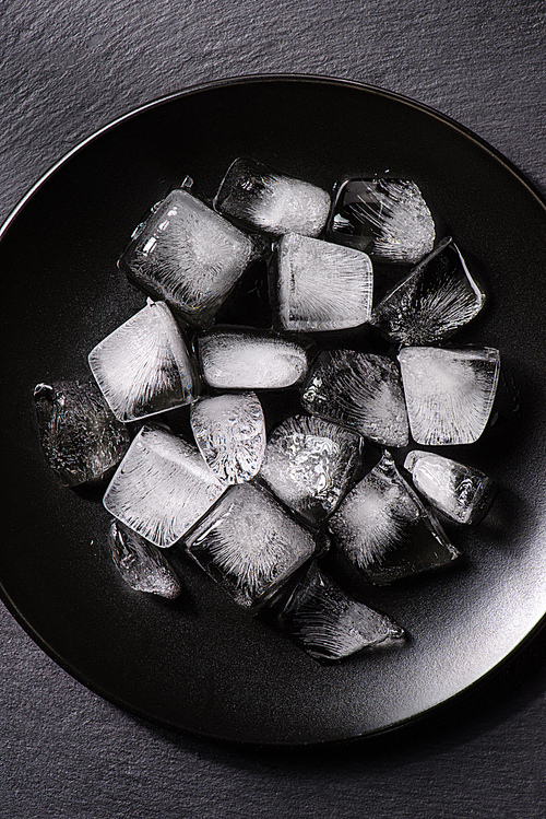
[[[321,73],[468,126],[546,192],[542,1],[4,0],[0,219],[79,140],[198,82]],[[0,817],[543,819],[546,637],[455,706],[343,750],[179,736],[75,682],[0,608]]]

